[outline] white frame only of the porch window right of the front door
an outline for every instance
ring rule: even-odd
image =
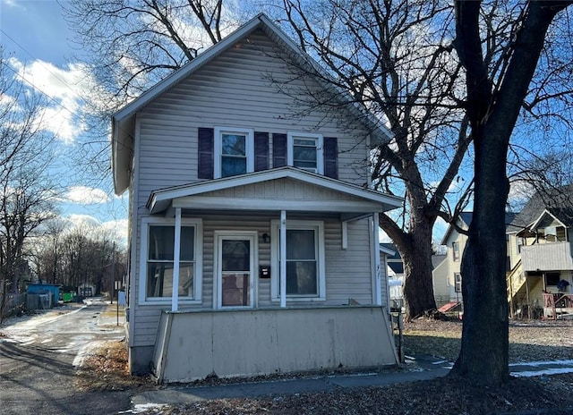
[[[317,276],[318,295],[289,295],[286,294],[286,301],[326,301],[326,272],[325,272],[325,241],[324,223],[322,221],[287,220],[286,230],[290,229],[312,229],[316,232],[318,241]],[[279,257],[279,231],[280,220],[270,221],[270,300],[280,301],[280,265]]]

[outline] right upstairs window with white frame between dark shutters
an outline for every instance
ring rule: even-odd
[[[323,138],[321,134],[288,132],[287,163],[312,173],[324,174]]]

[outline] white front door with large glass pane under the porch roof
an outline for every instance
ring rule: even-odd
[[[256,233],[217,233],[218,308],[253,306]]]

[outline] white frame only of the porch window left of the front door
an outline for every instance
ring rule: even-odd
[[[140,271],[139,271],[139,302],[140,304],[171,304],[172,296],[168,297],[147,297],[147,260],[148,260],[148,242],[150,235],[150,225],[173,225],[175,227],[175,218],[167,217],[143,217],[141,219],[141,242],[140,242]],[[195,241],[193,258],[193,297],[179,297],[179,304],[201,304],[202,292],[202,258],[203,258],[203,222],[201,219],[184,217],[181,219],[182,226],[193,226],[195,228]],[[175,258],[175,256],[174,256]],[[181,264],[182,261],[179,261]]]

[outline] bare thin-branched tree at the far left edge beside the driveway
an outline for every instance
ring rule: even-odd
[[[18,292],[26,241],[54,216],[54,137],[42,129],[42,100],[24,91],[3,55],[0,68],[0,279]]]

